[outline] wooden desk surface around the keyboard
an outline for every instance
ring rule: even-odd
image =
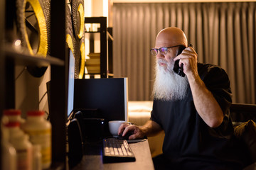
[[[151,153],[149,150],[149,142],[145,140],[143,142],[129,143],[134,152],[136,158],[135,162],[122,162],[122,163],[108,163],[102,162],[102,151],[99,145],[90,145],[85,148],[85,155],[82,157],[80,164],[75,166],[73,170],[97,170],[97,169],[122,169],[122,170],[134,170],[134,169],[146,169],[153,170],[154,165],[151,159]]]

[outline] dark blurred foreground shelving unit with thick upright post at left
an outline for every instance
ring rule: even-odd
[[[65,1],[50,1],[50,56],[30,55],[23,50],[16,50],[4,41],[6,29],[12,24],[14,8],[5,15],[0,15],[0,119],[4,109],[15,108],[15,77],[16,65],[50,65],[50,123],[52,125],[52,166],[50,169],[65,169],[66,166],[66,112],[67,112],[67,61],[68,52],[65,46]],[[5,4],[15,6],[14,1],[1,1],[0,13],[5,13]],[[13,11],[11,11],[13,10]],[[5,19],[8,22],[5,22]],[[53,57],[54,56],[54,57]],[[1,138],[1,135],[0,135]],[[1,151],[1,149],[0,149]],[[0,154],[0,158],[3,157]],[[0,159],[1,166],[1,159]]]

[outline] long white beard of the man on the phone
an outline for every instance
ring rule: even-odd
[[[160,59],[161,60],[161,59]],[[153,95],[161,101],[178,101],[186,96],[188,78],[174,73],[171,64],[167,63],[166,69],[156,61],[156,79],[154,81]],[[165,62],[165,60],[161,60]]]

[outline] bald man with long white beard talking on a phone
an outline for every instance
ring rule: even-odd
[[[198,63],[179,28],[161,30],[151,54],[156,56],[151,119],[140,127],[123,124],[119,134],[132,132],[132,140],[164,130],[163,154],[153,159],[155,169],[242,169],[225,71]],[[185,77],[174,72],[176,61]]]

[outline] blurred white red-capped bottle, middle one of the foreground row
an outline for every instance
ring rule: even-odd
[[[18,170],[32,170],[32,145],[22,130],[19,123],[10,122],[6,125],[9,129],[9,141],[16,149],[16,164]]]

